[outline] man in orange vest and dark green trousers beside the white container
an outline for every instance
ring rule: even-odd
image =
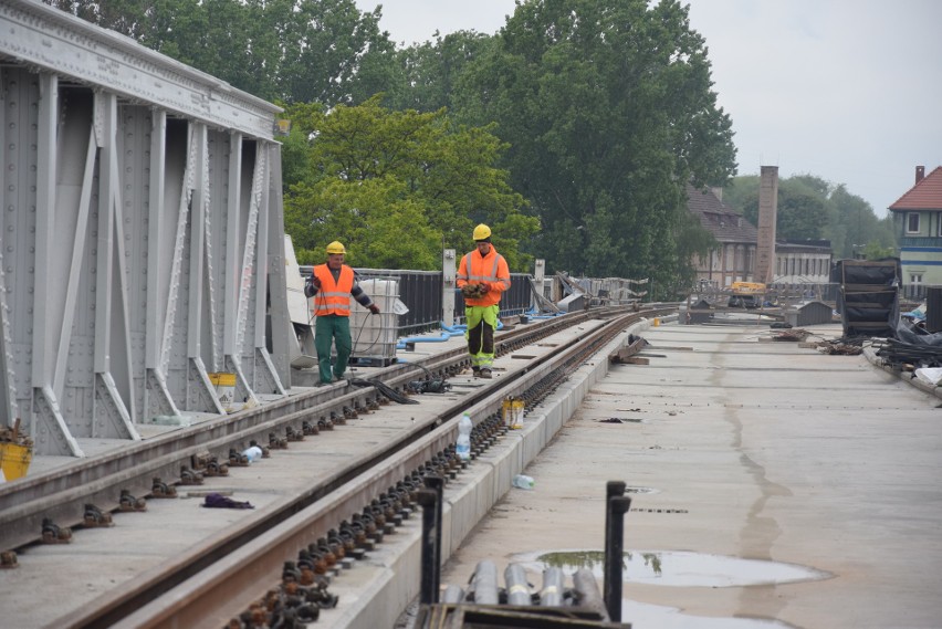
[[[317,317],[314,325],[314,347],[317,349],[317,364],[321,384],[341,380],[347,369],[353,340],[350,338],[350,296],[373,314],[379,314],[379,306],[373,303],[359,284],[354,271],[344,264],[347,250],[334,241],[327,245],[327,263],[314,266],[304,284],[304,295],[314,300],[311,313]],[[337,359],[331,368],[331,346],[336,343]]]

